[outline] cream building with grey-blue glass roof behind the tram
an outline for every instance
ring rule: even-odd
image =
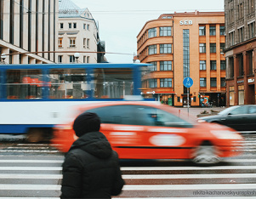
[[[59,8],[58,63],[97,63],[100,38],[92,14],[70,0],[61,0]]]

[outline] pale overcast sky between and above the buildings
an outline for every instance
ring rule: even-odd
[[[145,22],[160,14],[190,11],[224,11],[224,0],[71,0],[88,8],[99,22],[105,57],[112,63],[131,63],[137,51],[137,35]]]

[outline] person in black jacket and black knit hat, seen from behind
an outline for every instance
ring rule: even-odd
[[[122,191],[124,181],[118,162],[105,135],[100,117],[85,112],[73,129],[79,137],[65,156],[60,198],[111,198]]]

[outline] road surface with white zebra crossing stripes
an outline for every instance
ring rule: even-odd
[[[175,160],[122,160],[126,185],[117,198],[256,198],[256,136],[247,135],[245,145],[242,156],[213,167]],[[59,198],[63,160],[64,154],[48,144],[2,141],[0,199]]]

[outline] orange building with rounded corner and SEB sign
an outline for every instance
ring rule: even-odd
[[[183,80],[191,77],[190,105],[225,105],[224,48],[224,12],[162,14],[147,21],[137,36],[137,58],[152,64],[142,93],[184,106]]]

